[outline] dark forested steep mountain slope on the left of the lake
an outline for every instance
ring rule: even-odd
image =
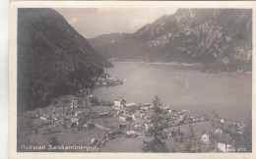
[[[52,9],[18,10],[18,110],[93,87],[112,64]]]

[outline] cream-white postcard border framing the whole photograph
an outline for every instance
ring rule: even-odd
[[[255,47],[256,2],[246,1],[13,1],[10,2],[9,15],[9,157],[13,158],[176,158],[196,159],[255,159],[255,100],[252,98],[252,153],[57,153],[57,152],[19,152],[17,153],[17,8],[243,8],[253,9],[253,46]],[[254,49],[253,47],[253,49]],[[255,61],[253,50],[253,62]],[[253,97],[255,97],[255,63],[253,63]]]

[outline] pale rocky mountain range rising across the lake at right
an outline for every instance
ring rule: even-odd
[[[202,63],[209,72],[252,70],[252,10],[178,9],[118,40],[106,36],[89,39],[105,58]]]

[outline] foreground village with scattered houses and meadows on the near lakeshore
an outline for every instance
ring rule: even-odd
[[[214,118],[197,116],[188,110],[176,110],[163,104],[160,104],[160,109],[164,113],[161,138],[166,143],[171,141],[169,144],[179,145],[178,149],[172,148],[172,152],[246,151],[244,143],[240,143],[240,146],[235,143],[237,136],[242,136],[245,125],[227,121],[217,114]],[[51,106],[32,111],[29,115],[32,119],[31,136],[36,144],[40,142],[38,135],[48,138],[69,136],[72,142],[61,144],[94,145],[98,147],[97,151],[104,151],[107,142],[118,137],[150,138],[147,132],[153,127],[153,110],[154,104],[127,102],[124,97],[103,102],[90,90],[81,90],[78,97],[64,96]],[[41,140],[45,142],[47,139]]]

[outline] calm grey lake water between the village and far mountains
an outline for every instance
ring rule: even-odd
[[[152,103],[156,95],[173,109],[219,116],[247,124],[252,118],[252,75],[208,74],[200,67],[116,62],[105,72],[126,79],[118,86],[96,88],[94,94],[113,101],[124,96],[127,102]]]

